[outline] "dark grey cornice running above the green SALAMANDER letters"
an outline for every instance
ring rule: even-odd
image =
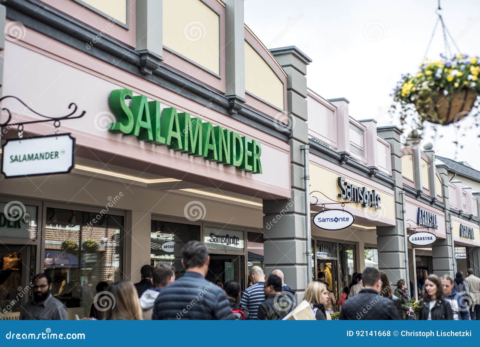
[[[237,114],[230,114],[229,98],[200,82],[192,81],[190,76],[183,75],[181,71],[160,65],[152,71],[151,75],[143,74],[140,72],[144,69],[141,52],[122,45],[106,35],[100,35],[98,39],[98,32],[53,8],[34,0],[8,0],[4,5],[7,18],[13,21],[19,21],[35,31],[77,48],[85,54],[114,64],[119,69],[178,93],[206,108],[231,116],[283,141],[288,140],[291,133],[288,127],[246,106],[242,106]],[[87,44],[90,46],[89,49]]]

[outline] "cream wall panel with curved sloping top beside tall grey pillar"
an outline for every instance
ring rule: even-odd
[[[284,109],[282,81],[247,41],[245,41],[245,90]]]

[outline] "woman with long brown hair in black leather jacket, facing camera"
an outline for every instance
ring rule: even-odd
[[[452,306],[444,300],[442,281],[436,275],[425,279],[425,293],[420,301],[419,319],[425,321],[453,320]]]

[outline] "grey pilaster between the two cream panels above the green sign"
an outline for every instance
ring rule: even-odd
[[[243,0],[225,1],[225,95],[230,104],[245,102],[245,27]],[[233,108],[232,110],[235,110]]]

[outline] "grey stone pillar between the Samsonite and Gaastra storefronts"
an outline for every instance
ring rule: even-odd
[[[377,127],[377,134],[390,143],[392,178],[395,194],[395,226],[377,227],[378,268],[384,271],[392,283],[406,278],[405,247],[402,218],[402,150],[400,136],[402,130],[396,126]],[[410,264],[415,262],[410,259]],[[408,284],[408,288],[409,284]]]

